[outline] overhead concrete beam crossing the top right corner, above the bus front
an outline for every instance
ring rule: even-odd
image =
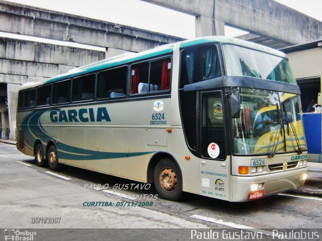
[[[195,16],[214,19],[250,33],[269,36],[291,44],[301,44],[322,38],[322,23],[273,0],[142,0]],[[213,8],[215,9],[213,15]],[[199,18],[199,17],[198,17]],[[209,21],[200,30],[196,19],[196,34],[211,32]],[[197,29],[198,28],[198,29]],[[217,34],[218,35],[218,34]]]

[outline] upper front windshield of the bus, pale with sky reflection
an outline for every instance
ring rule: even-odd
[[[227,75],[248,76],[295,84],[287,59],[265,52],[223,45]]]

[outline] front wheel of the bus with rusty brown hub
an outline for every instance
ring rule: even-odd
[[[183,197],[181,171],[172,159],[164,158],[156,164],[153,182],[163,199],[178,201]]]

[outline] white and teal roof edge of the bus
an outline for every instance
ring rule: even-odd
[[[201,37],[201,38],[197,38],[197,39],[193,39],[193,40],[185,40],[185,41],[181,42],[180,48],[187,48],[187,47],[192,47],[194,45],[216,43],[216,42],[220,42],[223,44],[225,44],[225,43],[235,44],[235,45],[243,46],[246,48],[251,48],[251,49],[255,49],[255,50],[260,50],[262,52],[274,54],[274,55],[280,56],[282,58],[286,57],[284,53],[277,51],[275,49],[272,49],[272,48],[268,48],[263,45],[259,45],[256,43],[252,43],[252,42],[248,42],[248,41],[244,41],[244,40],[239,40],[239,39],[235,39],[235,38],[227,38],[227,37],[220,37],[220,36]],[[153,49],[146,50],[146,51],[139,52],[139,53],[126,53],[126,54],[117,55],[117,56],[114,56],[114,57],[111,57],[108,59],[104,59],[104,60],[101,60],[101,61],[98,61],[98,62],[95,62],[92,64],[88,64],[85,66],[71,69],[67,73],[64,73],[64,74],[61,74],[61,75],[58,75],[55,77],[51,77],[51,78],[46,79],[44,81],[33,82],[33,83],[29,82],[29,83],[23,84],[21,86],[21,89],[27,89],[27,88],[35,87],[35,86],[42,85],[42,84],[48,84],[48,83],[60,81],[63,79],[68,79],[68,78],[72,78],[74,76],[95,72],[95,71],[110,68],[113,66],[128,64],[130,62],[137,61],[140,59],[143,60],[145,58],[150,58],[150,57],[163,55],[163,54],[169,54],[169,53],[173,52],[174,46],[175,46],[175,44],[171,43],[171,44],[167,44],[167,45],[157,46]]]

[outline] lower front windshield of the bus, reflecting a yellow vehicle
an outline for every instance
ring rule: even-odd
[[[271,155],[306,150],[299,95],[240,88],[233,118],[234,154]]]

